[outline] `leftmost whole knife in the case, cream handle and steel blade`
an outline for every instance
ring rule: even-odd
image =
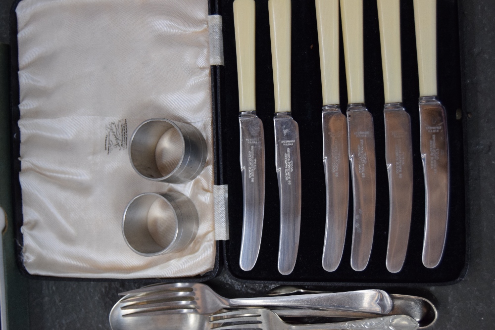
[[[254,0],[234,1],[244,208],[239,266],[245,271],[251,270],[258,258],[265,204],[263,124],[255,111],[254,19]]]

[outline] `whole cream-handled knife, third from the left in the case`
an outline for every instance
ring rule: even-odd
[[[349,206],[347,120],[339,98],[339,0],[316,0],[323,95],[323,164],[327,196],[322,266],[335,271],[346,239]]]

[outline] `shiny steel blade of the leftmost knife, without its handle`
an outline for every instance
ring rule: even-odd
[[[263,124],[254,111],[239,114],[243,177],[243,236],[239,265],[245,271],[258,258],[265,208],[265,140]]]

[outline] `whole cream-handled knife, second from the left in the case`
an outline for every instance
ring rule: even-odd
[[[299,129],[291,116],[291,0],[268,0],[275,91],[275,166],[280,198],[278,270],[294,270],[301,222]]]

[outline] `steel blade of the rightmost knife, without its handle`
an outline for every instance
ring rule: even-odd
[[[444,252],[449,193],[446,112],[435,96],[420,97],[419,122],[426,194],[423,265],[435,268]]]

